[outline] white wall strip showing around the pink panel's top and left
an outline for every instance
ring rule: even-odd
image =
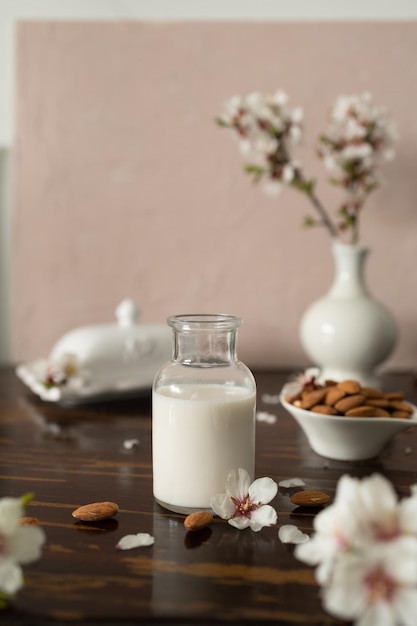
[[[14,26],[59,20],[408,20],[416,0],[0,0],[0,363],[9,361]],[[39,355],[45,356],[45,355]]]

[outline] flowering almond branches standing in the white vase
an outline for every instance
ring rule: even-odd
[[[359,214],[367,196],[380,185],[378,168],[392,160],[396,132],[385,110],[363,93],[340,96],[330,110],[329,126],[319,137],[318,156],[332,170],[328,182],[345,192],[339,207],[340,221],[333,221],[315,193],[314,182],[306,178],[292,150],[302,137],[303,111],[291,109],[288,96],[253,92],[234,96],[226,102],[224,114],[217,118],[238,140],[245,160],[245,171],[255,183],[262,183],[269,195],[284,186],[307,195],[319,221],[306,225],[325,226],[332,238],[351,232],[351,243],[359,240]]]

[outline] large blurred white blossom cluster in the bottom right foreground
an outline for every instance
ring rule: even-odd
[[[411,626],[417,613],[417,486],[399,500],[379,474],[342,476],[295,556],[316,565],[324,608],[357,626]]]

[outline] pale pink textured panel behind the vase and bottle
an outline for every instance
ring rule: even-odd
[[[397,159],[368,202],[369,284],[400,324],[387,365],[417,364],[417,23],[26,22],[17,31],[12,357],[46,356],[65,331],[173,313],[244,318],[248,365],[305,365],[298,324],[332,278],[307,200],[265,197],[214,117],[235,93],[288,92],[314,156],[329,105],[373,92],[398,121]]]

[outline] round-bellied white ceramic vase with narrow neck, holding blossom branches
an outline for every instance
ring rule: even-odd
[[[358,380],[379,386],[378,367],[397,342],[397,324],[375,300],[365,281],[368,249],[333,242],[335,276],[329,292],[304,313],[301,344],[320,379]]]

